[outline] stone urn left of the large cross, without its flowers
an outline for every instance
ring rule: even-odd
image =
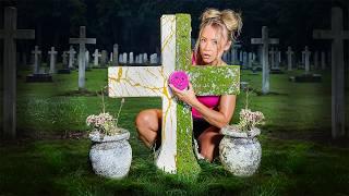
[[[130,132],[121,128],[119,134],[109,136],[94,131],[89,138],[93,142],[89,160],[94,172],[111,179],[124,177],[132,161],[132,148],[128,142]]]

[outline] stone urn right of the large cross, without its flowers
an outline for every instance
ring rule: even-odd
[[[224,168],[236,176],[251,176],[260,167],[262,147],[256,138],[261,131],[256,127],[241,132],[236,125],[220,130],[224,138],[219,144],[219,159]]]

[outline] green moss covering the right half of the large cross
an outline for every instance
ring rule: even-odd
[[[240,90],[239,66],[191,65],[191,19],[189,14],[176,15],[176,70],[190,73],[191,83],[197,95],[237,95]],[[194,157],[192,147],[191,108],[179,101],[177,106],[177,171],[179,176],[191,177],[201,169]]]

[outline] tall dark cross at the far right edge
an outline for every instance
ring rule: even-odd
[[[313,30],[315,39],[332,39],[332,136],[346,136],[345,123],[345,54],[344,40],[349,39],[349,30],[342,27],[342,10],[332,8],[332,29]]]

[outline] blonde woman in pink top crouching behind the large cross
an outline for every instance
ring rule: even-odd
[[[242,27],[239,13],[231,10],[208,9],[202,14],[198,39],[193,53],[194,65],[224,66],[225,51],[236,41]],[[200,154],[212,161],[218,155],[218,145],[222,138],[219,130],[227,125],[234,111],[236,96],[195,96],[191,84],[186,90],[179,90],[170,85],[172,93],[180,100],[192,107],[194,138],[198,140]],[[161,110],[141,111],[135,120],[139,137],[152,148],[159,146]]]

